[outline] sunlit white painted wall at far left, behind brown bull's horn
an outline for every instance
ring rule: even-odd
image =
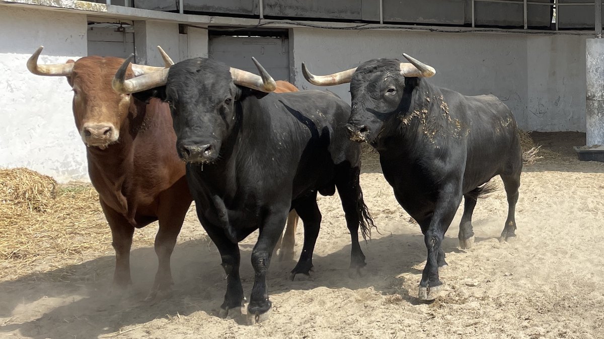
[[[65,77],[34,76],[25,67],[40,45],[43,63],[86,56],[86,16],[1,7],[0,32],[0,167],[28,167],[59,181],[87,179],[71,87]]]

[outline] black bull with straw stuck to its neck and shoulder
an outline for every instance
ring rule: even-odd
[[[515,236],[514,219],[522,170],[522,151],[512,112],[493,95],[468,97],[431,85],[435,70],[405,54],[411,63],[374,59],[355,69],[309,82],[329,86],[350,82],[353,140],[366,141],[380,155],[382,172],[399,204],[418,222],[428,248],[419,298],[433,300],[446,266],[441,247],[464,197],[459,241],[474,242],[472,211],[482,186],[500,175],[509,210],[501,241]]]

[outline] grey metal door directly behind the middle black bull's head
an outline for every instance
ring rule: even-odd
[[[252,56],[275,80],[289,81],[289,41],[287,37],[210,36],[208,59],[254,74],[258,70]]]

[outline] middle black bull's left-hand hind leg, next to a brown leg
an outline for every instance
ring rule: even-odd
[[[300,260],[292,270],[290,278],[295,279],[296,274],[306,274],[308,276],[312,271],[312,253],[315,250],[316,238],[319,236],[321,228],[321,211],[316,205],[316,191],[303,198],[298,198],[294,202],[294,207],[298,215],[304,222],[304,245]]]

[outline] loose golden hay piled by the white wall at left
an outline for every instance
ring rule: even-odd
[[[0,280],[32,273],[39,261],[43,271],[81,262],[89,250],[111,250],[92,186],[59,187],[32,170],[0,169]]]

